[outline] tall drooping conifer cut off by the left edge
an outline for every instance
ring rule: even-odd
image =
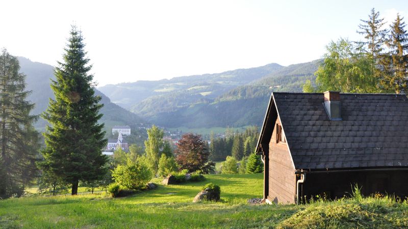
[[[25,75],[6,49],[0,54],[0,198],[20,195],[34,177],[39,149],[31,116],[34,104],[26,101]]]

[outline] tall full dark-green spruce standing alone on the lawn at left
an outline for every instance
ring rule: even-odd
[[[78,183],[92,182],[106,173],[107,157],[101,154],[106,146],[102,131],[104,124],[98,124],[103,104],[101,97],[94,95],[91,65],[86,58],[85,44],[81,31],[72,26],[63,63],[55,70],[56,80],[52,81],[55,100],[50,99],[42,117],[50,124],[44,133],[45,170],[72,185],[71,194],[78,193]]]

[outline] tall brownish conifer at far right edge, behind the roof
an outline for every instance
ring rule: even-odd
[[[384,77],[382,85],[395,93],[406,93],[408,83],[408,34],[405,22],[397,14],[397,18],[390,25],[390,35],[387,46],[390,51],[383,56]]]

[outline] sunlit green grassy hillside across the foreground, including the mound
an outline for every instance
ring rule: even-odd
[[[33,196],[0,201],[0,228],[406,228],[408,204],[356,195],[307,205],[248,205],[262,195],[263,174],[206,175],[207,180],[159,186],[131,197],[104,193]],[[159,179],[155,180],[159,182]],[[191,203],[209,182],[221,202]]]

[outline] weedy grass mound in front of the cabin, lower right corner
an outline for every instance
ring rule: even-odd
[[[278,228],[408,228],[408,204],[390,197],[318,202],[282,221]]]

